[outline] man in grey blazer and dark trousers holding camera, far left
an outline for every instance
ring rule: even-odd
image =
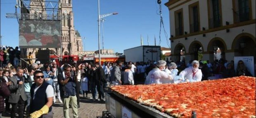
[[[24,105],[27,100],[24,87],[23,68],[18,67],[17,74],[10,77],[10,81],[12,82],[11,85],[9,85],[11,91],[9,102],[12,104],[11,118],[15,118],[15,113],[17,112],[18,107],[19,118],[23,118]]]

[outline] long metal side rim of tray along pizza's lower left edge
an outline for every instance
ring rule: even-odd
[[[145,106],[143,104],[140,104],[140,103],[137,103],[133,100],[130,100],[129,98],[127,98],[126,96],[120,94],[120,93],[117,93],[116,91],[112,91],[112,93],[114,93],[114,95],[116,95],[117,97],[121,98],[122,100],[132,104],[134,107],[150,114],[151,116],[155,117],[155,118],[173,118],[172,116],[169,116],[168,114],[166,113],[163,113],[153,107],[148,107],[148,106]]]

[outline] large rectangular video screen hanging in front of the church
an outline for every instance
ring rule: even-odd
[[[19,48],[60,48],[60,20],[19,20]]]

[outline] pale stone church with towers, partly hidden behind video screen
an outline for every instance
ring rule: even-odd
[[[30,19],[42,19],[46,20],[47,14],[45,10],[44,0],[33,0],[30,2],[30,7],[34,8],[30,10]],[[62,15],[61,20],[61,32],[62,32],[62,49],[61,48],[49,48],[52,52],[57,55],[77,55],[78,52],[83,51],[83,43],[81,36],[74,27],[74,14],[72,11],[72,0],[59,0],[58,15]],[[49,9],[49,8],[46,8]],[[28,48],[27,54],[32,52],[33,57],[36,57],[37,50],[46,50],[46,48]],[[61,54],[62,52],[62,54]]]

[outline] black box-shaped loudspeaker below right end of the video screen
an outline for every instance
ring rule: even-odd
[[[40,61],[40,64],[49,64],[50,50],[38,50],[37,59]]]

